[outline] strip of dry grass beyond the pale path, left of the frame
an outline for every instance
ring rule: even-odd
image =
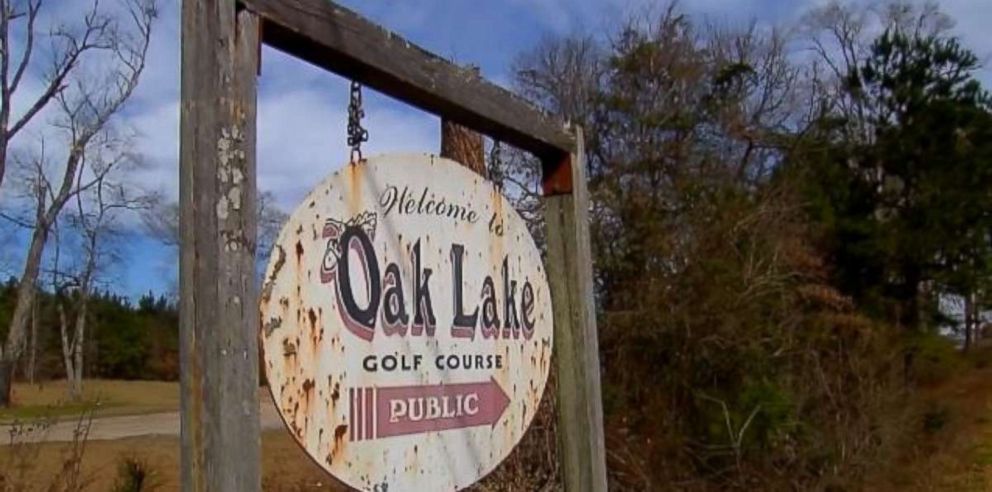
[[[73,415],[93,409],[94,417],[175,411],[179,408],[179,383],[164,381],[83,382],[83,400],[68,401],[65,381],[40,384],[15,383],[13,406],[0,409],[0,421]]]

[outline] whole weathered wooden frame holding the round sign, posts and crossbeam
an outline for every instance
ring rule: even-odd
[[[182,490],[261,489],[254,216],[261,43],[541,159],[562,478],[570,492],[605,491],[581,129],[328,0],[182,2]]]

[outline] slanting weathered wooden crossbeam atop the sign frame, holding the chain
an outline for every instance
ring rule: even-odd
[[[574,147],[563,123],[522,98],[328,0],[239,0],[262,19],[262,41],[497,140],[560,162]]]

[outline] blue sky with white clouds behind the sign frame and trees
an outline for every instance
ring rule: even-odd
[[[104,0],[110,2],[112,0]],[[756,20],[785,26],[824,0],[682,0],[697,18],[728,25]],[[159,0],[148,68],[124,115],[139,132],[138,148],[149,162],[138,176],[144,186],[177,194],[179,125],[179,1]],[[82,0],[55,0],[54,15],[78,8]],[[512,79],[510,65],[542,38],[569,33],[602,33],[631,14],[657,11],[648,0],[375,0],[341,1],[372,20],[443,56],[476,64],[501,84]],[[983,60],[992,55],[989,0],[944,0],[957,22],[954,33]],[[987,63],[988,64],[988,63]],[[992,82],[992,71],[982,78]],[[30,88],[30,87],[29,87]],[[287,210],[347,158],[344,142],[347,81],[266,48],[259,79],[259,184],[275,193]],[[438,120],[400,102],[366,91],[367,154],[428,151],[438,147]],[[15,112],[17,110],[15,104]],[[8,191],[0,190],[0,198]],[[10,242],[8,246],[18,241]],[[7,248],[8,250],[16,248]],[[2,253],[2,251],[0,251]],[[107,272],[115,290],[136,295],[174,286],[175,257],[139,234],[122,245],[126,264]],[[0,256],[0,274],[16,273],[17,253]],[[6,261],[4,261],[6,258]],[[13,259],[12,259],[13,258]]]

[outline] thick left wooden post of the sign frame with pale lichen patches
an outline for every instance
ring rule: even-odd
[[[258,20],[183,0],[181,461],[185,492],[261,489],[255,287]]]

